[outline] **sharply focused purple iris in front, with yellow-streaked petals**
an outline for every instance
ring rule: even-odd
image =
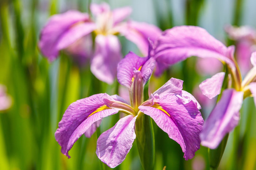
[[[182,147],[185,160],[192,159],[200,148],[199,134],[203,119],[201,106],[192,94],[183,91],[183,81],[171,78],[144,102],[144,85],[155,68],[153,57],[141,58],[129,52],[118,65],[118,81],[129,90],[130,103],[118,95],[95,94],[73,102],[65,111],[55,138],[61,152],[70,158],[68,151],[75,141],[85,134],[90,137],[101,119],[119,111],[126,116],[114,127],[103,132],[97,141],[96,154],[109,167],[124,161],[136,138],[135,121],[139,114],[155,120],[158,127]]]

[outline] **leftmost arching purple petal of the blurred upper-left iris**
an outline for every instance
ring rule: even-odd
[[[88,20],[88,14],[78,11],[67,11],[63,14],[57,14],[51,17],[40,34],[38,46],[42,53],[50,61],[56,59],[60,50],[57,48],[57,45],[62,35],[68,32],[74,24]]]

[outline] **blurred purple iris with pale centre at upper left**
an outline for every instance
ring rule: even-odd
[[[110,10],[106,3],[91,4],[93,18],[87,13],[70,10],[52,16],[41,31],[39,47],[50,61],[59,51],[73,54],[79,63],[91,59],[91,72],[101,81],[112,84],[117,74],[117,65],[122,58],[121,44],[117,34],[134,42],[144,56],[148,41],[161,34],[153,25],[135,21],[122,22],[131,13],[129,7]],[[92,50],[91,35],[95,35]]]

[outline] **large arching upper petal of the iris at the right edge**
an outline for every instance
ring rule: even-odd
[[[155,57],[167,64],[175,64],[191,56],[217,58],[231,68],[234,47],[227,48],[205,29],[197,26],[176,26],[166,30],[158,39]]]

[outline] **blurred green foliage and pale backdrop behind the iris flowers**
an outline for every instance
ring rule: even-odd
[[[163,31],[173,26],[205,28],[226,45],[236,44],[225,33],[226,25],[256,28],[255,0],[106,0],[111,9],[130,6],[135,21],[147,22]],[[65,53],[49,62],[40,53],[39,34],[48,18],[70,9],[88,12],[90,3],[101,0],[0,0],[0,97],[7,95],[0,111],[0,170],[108,170],[97,157],[97,137],[114,126],[119,115],[104,118],[91,138],[82,136],[67,159],[55,141],[55,130],[69,104],[95,93],[121,93],[113,85],[95,80],[87,63],[77,66]],[[119,37],[123,55],[140,54],[135,44]],[[204,68],[212,62],[216,68]],[[212,66],[213,67],[213,66]],[[201,95],[198,85],[222,70],[219,61],[195,57],[170,67],[162,76],[151,78],[152,91],[171,77],[184,80],[184,90],[193,93],[202,106],[204,119],[215,101]],[[93,80],[93,81],[92,81]],[[95,83],[96,82],[96,83]],[[2,99],[1,99],[2,100]],[[238,127],[229,135],[219,170],[256,169],[256,109],[247,98]],[[179,144],[154,124],[155,170],[207,170],[208,148],[201,146],[192,160],[185,161]],[[142,169],[136,141],[116,170]]]

